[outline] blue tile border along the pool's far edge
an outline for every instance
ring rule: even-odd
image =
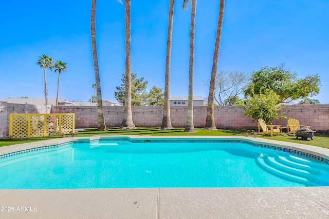
[[[266,144],[260,144],[260,143],[254,143],[250,142],[247,140],[234,140],[234,139],[149,139],[149,138],[144,138],[144,139],[133,139],[130,137],[101,137],[97,140],[89,140],[89,139],[78,139],[72,142],[66,142],[66,143],[61,143],[58,145],[50,145],[50,146],[43,146],[43,147],[38,147],[38,148],[31,148],[31,149],[26,149],[22,151],[16,151],[8,154],[3,154],[0,155],[0,160],[4,158],[12,158],[12,156],[16,155],[22,155],[25,153],[30,153],[34,151],[41,151],[41,150],[51,150],[54,148],[60,148],[63,146],[68,146],[72,144],[93,144],[93,143],[108,143],[108,142],[130,142],[130,143],[242,143],[242,144],[247,144],[251,145],[254,147],[261,147],[261,148],[267,148],[267,149],[273,149],[273,150],[278,150],[278,151],[284,151],[284,152],[289,152],[301,156],[305,156],[308,158],[311,158],[316,161],[320,161],[322,163],[325,163],[329,165],[329,160],[314,154],[309,154],[306,152],[298,151],[298,150],[293,150],[289,148],[284,148],[284,147],[279,147],[279,146],[273,146],[273,145],[266,145]]]

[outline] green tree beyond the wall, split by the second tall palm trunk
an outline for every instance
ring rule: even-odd
[[[144,106],[147,104],[147,98],[148,94],[146,92],[146,88],[148,85],[148,81],[144,81],[144,77],[137,78],[137,74],[131,73],[132,78],[132,100],[131,104],[132,106]],[[122,74],[121,78],[122,84],[120,87],[116,87],[117,91],[114,91],[114,96],[117,99],[117,101],[125,106],[125,73]]]

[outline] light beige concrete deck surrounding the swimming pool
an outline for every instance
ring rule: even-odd
[[[79,138],[99,136],[6,146],[0,155]],[[315,146],[252,137],[215,138],[242,138],[329,157],[329,149]],[[329,187],[0,189],[0,204],[0,218],[329,218]]]

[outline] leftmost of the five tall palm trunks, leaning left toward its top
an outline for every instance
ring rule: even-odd
[[[93,49],[95,79],[96,79],[96,86],[97,86],[97,123],[98,123],[97,130],[98,131],[105,131],[106,126],[105,126],[103,104],[102,104],[101,82],[100,82],[100,78],[99,78],[99,69],[98,69],[95,16],[96,16],[96,0],[92,0],[92,15],[91,15],[91,19],[90,19],[90,34],[92,36],[92,49]]]

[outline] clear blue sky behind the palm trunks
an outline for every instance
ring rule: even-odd
[[[194,95],[206,97],[219,0],[196,9]],[[44,97],[38,56],[67,63],[60,98],[88,101],[95,82],[90,39],[91,0],[2,1],[0,6],[0,99]],[[188,95],[190,8],[175,1],[171,96]],[[103,99],[115,101],[125,70],[124,4],[98,0],[96,38]],[[329,104],[329,1],[226,1],[218,70],[257,71],[285,62],[299,77],[320,75],[322,104]],[[164,88],[169,0],[131,1],[132,72]],[[58,75],[47,71],[48,98],[56,98]]]

